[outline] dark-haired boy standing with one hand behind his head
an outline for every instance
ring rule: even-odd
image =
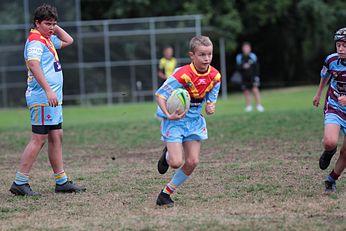
[[[56,49],[69,46],[73,38],[57,25],[58,13],[47,4],[34,12],[33,29],[24,48],[28,68],[26,102],[30,110],[32,135],[21,159],[10,191],[15,195],[40,195],[29,185],[30,170],[46,140],[48,157],[55,178],[55,192],[82,192],[65,174],[62,159],[62,85],[63,75]]]

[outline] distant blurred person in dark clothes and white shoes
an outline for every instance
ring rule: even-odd
[[[261,104],[261,95],[259,92],[260,78],[259,78],[259,64],[257,56],[251,52],[251,44],[244,42],[242,45],[242,53],[236,57],[237,71],[242,77],[241,88],[245,96],[245,111],[252,111],[251,105],[251,92],[256,100],[256,109],[263,112],[264,108]]]

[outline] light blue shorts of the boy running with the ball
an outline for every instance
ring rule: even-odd
[[[208,139],[207,124],[202,115],[196,118],[161,121],[161,140],[164,142],[183,143],[206,139]]]

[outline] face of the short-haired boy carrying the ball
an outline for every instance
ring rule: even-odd
[[[206,72],[213,59],[213,46],[197,46],[189,52],[192,63],[199,72]]]

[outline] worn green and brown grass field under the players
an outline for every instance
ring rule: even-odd
[[[154,104],[65,107],[65,170],[87,192],[55,194],[44,149],[31,181],[41,198],[8,191],[30,125],[26,109],[0,110],[0,230],[345,230],[343,179],[336,194],[322,193],[331,167],[318,168],[323,117],[311,106],[314,91],[264,91],[264,113],[244,113],[241,95],[220,100],[200,165],[171,209],[155,206],[173,171],[156,170]]]

